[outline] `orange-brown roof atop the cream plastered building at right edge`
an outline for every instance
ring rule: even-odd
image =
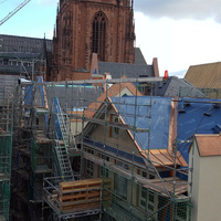
[[[196,135],[201,157],[221,156],[221,135]]]

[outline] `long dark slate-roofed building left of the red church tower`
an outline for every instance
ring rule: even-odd
[[[0,75],[28,80],[42,75],[46,78],[51,60],[52,40],[0,34]]]

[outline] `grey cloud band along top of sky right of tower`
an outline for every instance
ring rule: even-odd
[[[135,10],[159,19],[214,19],[221,21],[220,0],[135,0]]]

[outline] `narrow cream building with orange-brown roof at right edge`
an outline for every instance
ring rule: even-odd
[[[192,221],[220,220],[220,167],[221,167],[221,135],[196,135],[190,149],[190,167],[193,168]]]

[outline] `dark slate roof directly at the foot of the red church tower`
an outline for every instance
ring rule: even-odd
[[[120,78],[124,75],[127,77],[139,77],[140,75],[151,77],[155,75],[152,65],[112,62],[98,62],[98,72],[99,74],[108,72],[112,78]]]

